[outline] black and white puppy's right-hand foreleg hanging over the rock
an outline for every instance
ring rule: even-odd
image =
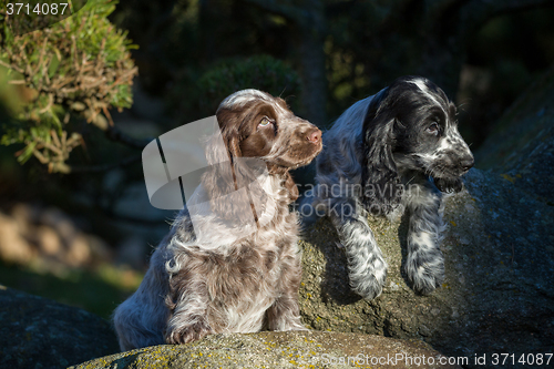
[[[413,289],[422,295],[432,293],[444,280],[444,256],[439,245],[443,227],[440,205],[440,194],[427,186],[418,186],[407,204],[410,219],[404,270]]]

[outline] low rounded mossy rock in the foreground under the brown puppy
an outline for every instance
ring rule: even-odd
[[[460,368],[440,366],[440,360],[448,358],[417,340],[289,331],[212,335],[188,345],[147,347],[71,368],[351,368],[368,367],[367,362],[379,368]]]

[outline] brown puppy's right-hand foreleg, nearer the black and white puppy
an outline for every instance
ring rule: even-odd
[[[281,275],[277,281],[277,285],[284,289],[266,312],[269,330],[307,330],[300,321],[298,307],[300,279],[301,266],[298,255],[287,256],[283,262]]]

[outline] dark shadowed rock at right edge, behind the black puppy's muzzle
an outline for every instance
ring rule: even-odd
[[[554,206],[554,68],[541,75],[494,125],[475,153],[482,168]]]

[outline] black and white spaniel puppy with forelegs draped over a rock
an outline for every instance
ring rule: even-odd
[[[387,277],[367,212],[389,218],[409,212],[406,274],[420,294],[442,284],[442,193],[460,191],[460,176],[473,166],[456,125],[456,109],[441,89],[403,76],[350,106],[324,133],[317,185],[300,213],[330,216],[347,254],[350,286],[363,298],[379,296]]]

